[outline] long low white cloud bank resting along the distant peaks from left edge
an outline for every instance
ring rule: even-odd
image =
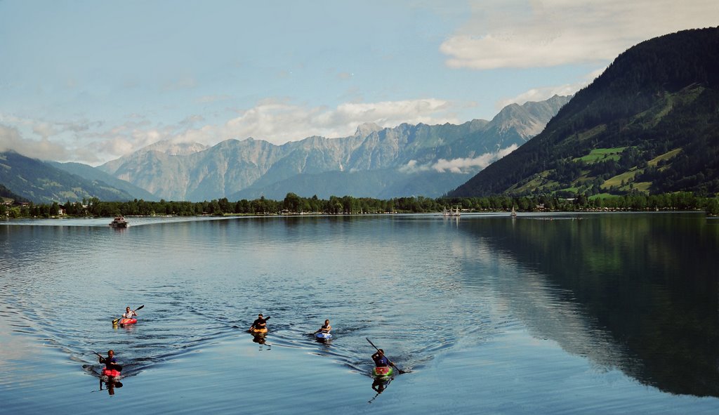
[[[122,157],[160,140],[199,142],[215,145],[221,140],[254,137],[281,145],[313,135],[347,137],[357,126],[374,123],[380,127],[409,124],[457,123],[455,104],[441,99],[383,101],[377,103],[303,106],[288,99],[266,99],[224,124],[204,124],[206,119],[191,115],[175,125],[153,125],[145,117],[129,114],[124,124],[105,126],[101,122],[51,122],[3,116],[0,145],[36,158],[80,161],[96,165]],[[1,125],[1,124],[0,124]],[[38,138],[39,140],[34,140]]]

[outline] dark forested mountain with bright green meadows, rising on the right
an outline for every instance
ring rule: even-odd
[[[719,193],[719,27],[619,55],[543,132],[449,196]]]

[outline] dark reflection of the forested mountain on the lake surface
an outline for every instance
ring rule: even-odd
[[[719,396],[719,223],[585,214],[459,229],[524,270],[496,289],[537,337],[662,391]]]

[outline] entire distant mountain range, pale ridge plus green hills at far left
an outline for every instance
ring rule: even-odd
[[[308,137],[284,145],[263,140],[155,142],[98,168],[0,153],[0,183],[17,199],[203,201],[300,196],[441,196],[493,160],[523,145],[569,101],[506,106],[491,121],[464,124],[364,124],[349,137]],[[12,198],[11,198],[12,199]]]

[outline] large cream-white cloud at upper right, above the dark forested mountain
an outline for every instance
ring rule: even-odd
[[[718,21],[715,0],[481,0],[439,50],[450,68],[605,62],[651,37]]]

